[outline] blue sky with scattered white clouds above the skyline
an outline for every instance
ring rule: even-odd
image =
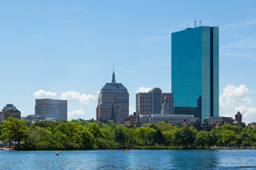
[[[220,28],[220,115],[256,121],[256,1],[0,1],[0,108],[34,114],[36,98],[68,100],[68,120],[96,117],[112,80],[135,96],[171,92],[171,33]]]

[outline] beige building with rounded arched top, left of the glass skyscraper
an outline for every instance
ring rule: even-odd
[[[166,101],[166,107],[164,107]],[[163,109],[164,108],[164,109]],[[148,93],[136,94],[136,112],[139,115],[174,114],[174,94],[154,88]]]

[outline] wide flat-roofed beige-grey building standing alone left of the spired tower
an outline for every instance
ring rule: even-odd
[[[68,101],[50,98],[36,99],[35,115],[55,120],[68,120]]]

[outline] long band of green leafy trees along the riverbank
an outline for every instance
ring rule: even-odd
[[[16,143],[16,149],[114,149],[123,147],[254,147],[256,128],[225,124],[198,132],[194,127],[168,123],[149,123],[141,128],[126,128],[114,123],[40,121],[31,123],[10,117],[0,125],[0,140]]]

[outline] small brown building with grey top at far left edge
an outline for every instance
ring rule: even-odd
[[[9,117],[21,119],[21,111],[18,111],[14,105],[7,104],[1,111],[1,122],[8,120]]]

